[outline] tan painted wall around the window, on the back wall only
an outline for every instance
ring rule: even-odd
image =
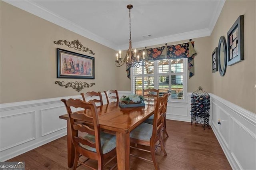
[[[172,42],[168,43],[168,45],[175,45],[184,42],[188,42],[189,40],[179,41],[179,42]],[[188,92],[193,92],[198,89],[199,86],[202,86],[203,89],[207,92],[211,92],[212,83],[211,83],[211,76],[212,76],[212,66],[211,66],[211,55],[212,52],[210,49],[210,37],[203,37],[203,38],[194,38],[192,41],[195,42],[195,49],[197,51],[197,55],[194,58],[194,76],[188,79]],[[161,47],[164,44],[148,46],[148,48],[153,47]],[[138,50],[143,48],[138,48]],[[123,66],[124,67],[124,66]],[[118,87],[119,85],[122,88],[131,90],[131,82],[126,77],[125,68],[119,67],[118,71]],[[189,76],[188,76],[189,77]]]

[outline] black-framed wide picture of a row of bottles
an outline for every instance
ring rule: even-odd
[[[57,48],[57,78],[94,79],[94,57]]]

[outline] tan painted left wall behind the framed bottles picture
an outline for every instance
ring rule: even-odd
[[[79,95],[55,81],[95,82],[82,90],[117,89],[115,51],[42,18],[0,1],[0,103]],[[95,52],[81,52],[54,41],[79,40]],[[56,48],[95,57],[95,79],[57,79]],[[110,78],[111,77],[111,78]]]

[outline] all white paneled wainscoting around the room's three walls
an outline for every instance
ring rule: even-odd
[[[118,91],[119,97],[130,91]],[[105,94],[102,93],[104,103]],[[169,102],[166,118],[190,122],[187,103]],[[80,95],[0,105],[0,161],[5,161],[66,135],[66,113],[60,99]],[[256,169],[256,114],[210,94],[210,125],[233,169]],[[220,125],[218,124],[220,119]]]

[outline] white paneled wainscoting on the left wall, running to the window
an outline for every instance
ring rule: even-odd
[[[120,97],[130,92],[118,91]],[[67,134],[66,114],[60,99],[80,95],[0,104],[0,161],[6,161]],[[104,104],[106,96],[102,93]]]

